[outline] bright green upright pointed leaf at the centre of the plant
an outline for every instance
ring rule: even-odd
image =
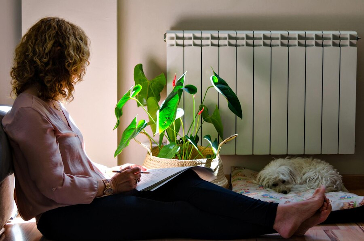
[[[183,92],[182,88],[185,81],[185,74],[178,79],[173,90],[163,101],[157,112],[159,134],[166,130],[175,120],[179,100],[181,100]]]

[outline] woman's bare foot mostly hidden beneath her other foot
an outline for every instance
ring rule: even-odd
[[[325,221],[331,212],[331,204],[328,198],[325,198],[323,206],[318,210],[312,217],[306,219],[302,224],[298,227],[297,231],[293,234],[296,236],[305,235],[308,229],[321,224],[321,222]]]

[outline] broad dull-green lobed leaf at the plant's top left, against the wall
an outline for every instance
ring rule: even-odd
[[[163,73],[152,80],[148,80],[143,72],[143,65],[137,64],[134,67],[134,82],[143,87],[142,91],[137,95],[137,99],[143,106],[147,105],[149,97],[154,97],[157,102],[161,100],[160,93],[166,85],[166,77]]]

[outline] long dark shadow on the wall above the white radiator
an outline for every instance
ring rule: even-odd
[[[348,30],[363,36],[364,29],[353,29],[364,16],[212,16],[179,19],[169,30]]]

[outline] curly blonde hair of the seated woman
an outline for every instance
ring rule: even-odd
[[[15,48],[10,72],[15,96],[31,86],[45,100],[73,100],[74,85],[83,79],[90,62],[84,31],[58,17],[39,20]]]

